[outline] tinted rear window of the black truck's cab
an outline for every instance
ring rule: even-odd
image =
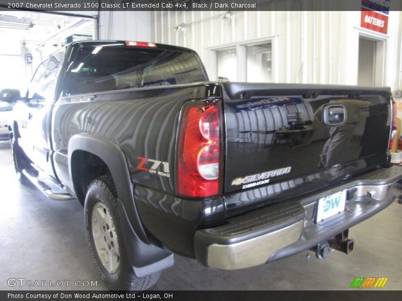
[[[192,51],[82,43],[74,45],[63,95],[207,80],[203,64]]]

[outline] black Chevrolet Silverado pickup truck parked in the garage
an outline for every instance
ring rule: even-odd
[[[232,270],[352,251],[349,228],[399,194],[391,101],[383,87],[211,82],[181,47],[74,42],[15,105],[13,158],[20,181],[84,206],[106,284],[141,290],[173,253]]]

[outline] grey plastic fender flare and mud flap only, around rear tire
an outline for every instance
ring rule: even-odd
[[[124,233],[124,242],[137,277],[144,277],[173,265],[173,254],[157,246],[147,244],[144,228],[140,222],[134,202],[133,184],[122,149],[103,137],[76,134],[68,143],[68,170],[71,183],[71,159],[76,150],[84,150],[102,159],[112,174],[118,194],[118,212],[120,226]],[[75,189],[74,184],[74,189]],[[130,214],[131,213],[131,214]],[[145,242],[144,242],[145,241]]]

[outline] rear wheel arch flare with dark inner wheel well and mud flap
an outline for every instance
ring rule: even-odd
[[[86,169],[88,166],[95,168],[89,168],[88,172]],[[122,229],[126,233],[125,247],[135,255],[130,258],[138,277],[173,264],[170,252],[149,244],[134,203],[133,184],[127,159],[118,145],[103,137],[74,135],[68,143],[68,167],[71,183],[81,204],[85,201],[87,189],[85,185],[88,186],[101,176],[114,183]]]

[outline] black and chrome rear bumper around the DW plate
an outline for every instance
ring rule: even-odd
[[[308,197],[231,218],[198,230],[194,249],[205,266],[233,270],[264,264],[312,248],[389,206],[399,191],[393,184],[402,167],[379,169]],[[347,189],[345,211],[315,223],[317,200]]]

